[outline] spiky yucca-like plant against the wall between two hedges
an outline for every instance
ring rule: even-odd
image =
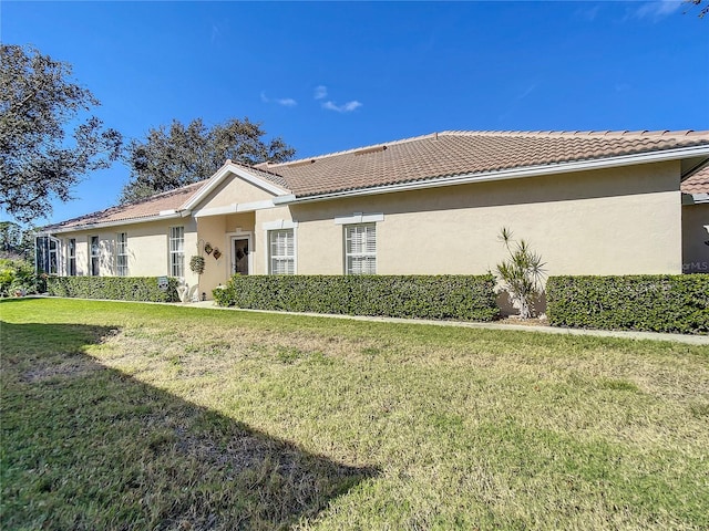
[[[530,319],[534,300],[543,290],[545,263],[525,240],[513,240],[512,231],[506,227],[500,231],[499,239],[507,249],[510,258],[497,264],[497,274],[512,302],[520,306],[520,317]]]

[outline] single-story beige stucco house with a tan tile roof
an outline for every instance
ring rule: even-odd
[[[709,132],[443,132],[210,178],[44,228],[61,275],[709,272]],[[197,275],[192,256],[206,259]]]

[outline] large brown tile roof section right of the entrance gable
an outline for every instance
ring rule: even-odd
[[[260,164],[297,197],[707,145],[709,132],[448,131],[282,164]]]

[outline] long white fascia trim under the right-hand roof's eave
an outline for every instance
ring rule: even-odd
[[[352,190],[340,190],[315,196],[297,197],[295,195],[284,195],[274,198],[274,205],[290,205],[300,202],[325,201],[346,197],[372,196],[379,194],[391,194],[397,191],[420,190],[425,188],[438,188],[443,186],[465,185],[472,183],[485,183],[494,180],[520,179],[525,177],[538,177],[543,175],[567,174],[574,171],[587,171],[593,169],[616,168],[623,166],[635,166],[638,164],[661,163],[668,160],[680,160],[684,158],[707,156],[709,146],[692,146],[680,149],[667,149],[664,152],[643,153],[635,155],[624,155],[598,160],[576,160],[556,165],[527,166],[522,168],[508,168],[495,171],[482,171],[475,174],[463,174],[455,176],[427,179],[415,183],[397,183],[393,185],[374,186],[371,188],[359,188]]]

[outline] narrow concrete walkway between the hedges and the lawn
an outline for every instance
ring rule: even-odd
[[[193,303],[175,303],[179,306],[207,308],[212,310],[227,310],[254,313],[273,313],[281,315],[307,315],[310,317],[331,317],[331,319],[349,319],[353,321],[374,321],[382,323],[405,323],[405,324],[432,324],[435,326],[462,326],[467,329],[485,329],[485,330],[517,330],[521,332],[536,332],[542,334],[561,334],[561,335],[595,335],[597,337],[620,337],[624,340],[650,340],[650,341],[671,341],[675,343],[686,343],[689,345],[708,345],[709,335],[685,335],[685,334],[665,334],[659,332],[624,332],[615,330],[585,330],[585,329],[559,329],[556,326],[525,325],[525,324],[502,324],[502,323],[473,323],[464,321],[433,321],[428,319],[399,319],[399,317],[373,317],[367,315],[338,315],[330,313],[300,313],[300,312],[275,312],[267,310],[245,310],[240,308],[217,306],[214,301],[193,302]]]

